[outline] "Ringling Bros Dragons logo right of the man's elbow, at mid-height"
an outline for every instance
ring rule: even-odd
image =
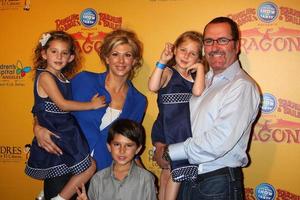
[[[277,99],[272,94],[265,93],[261,111],[262,116],[254,128],[253,141],[300,144],[300,123],[290,121],[300,119],[299,103],[283,98]],[[288,120],[274,116],[275,111],[278,115],[283,114]]]

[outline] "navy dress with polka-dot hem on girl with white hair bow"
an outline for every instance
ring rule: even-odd
[[[25,173],[35,179],[47,179],[65,174],[80,174],[91,165],[89,147],[76,121],[69,112],[59,109],[53,101],[42,98],[37,93],[37,81],[41,73],[50,73],[46,70],[37,70],[34,82],[33,114],[38,123],[47,128],[59,138],[51,136],[52,140],[62,150],[62,155],[51,154],[39,147],[36,138],[33,138],[30,156]],[[72,99],[71,84],[67,80],[60,80],[50,73],[61,94],[65,99]]]

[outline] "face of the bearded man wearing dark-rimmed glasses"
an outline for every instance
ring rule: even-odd
[[[204,32],[204,40],[219,38],[232,38],[231,28],[228,23],[208,24]],[[222,73],[238,58],[239,42],[230,40],[226,45],[219,45],[216,41],[211,46],[204,45],[205,58],[214,74]]]

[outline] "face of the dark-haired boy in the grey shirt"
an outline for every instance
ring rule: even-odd
[[[111,152],[116,166],[129,167],[142,147],[138,147],[134,141],[121,134],[115,134],[113,140],[107,144],[107,148]]]

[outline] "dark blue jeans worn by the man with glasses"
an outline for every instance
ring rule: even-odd
[[[181,183],[177,200],[243,200],[240,168],[223,168],[222,173],[198,175],[197,181]],[[228,170],[227,170],[228,169]],[[217,170],[218,171],[218,170]]]

